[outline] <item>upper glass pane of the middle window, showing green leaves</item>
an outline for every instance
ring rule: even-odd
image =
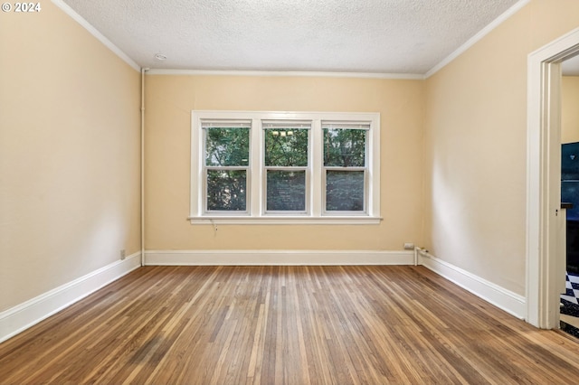
[[[268,128],[265,131],[265,165],[308,165],[308,129]]]

